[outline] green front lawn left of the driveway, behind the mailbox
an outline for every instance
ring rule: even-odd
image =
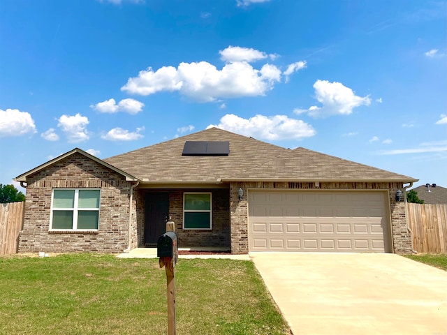
[[[290,334],[252,262],[179,260],[177,334]],[[167,334],[158,259],[0,258],[0,334]]]

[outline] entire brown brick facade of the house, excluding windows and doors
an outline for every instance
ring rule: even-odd
[[[121,174],[105,168],[82,154],[75,153],[28,177],[24,228],[20,234],[19,252],[80,252],[121,253],[144,246],[145,188],[133,190],[132,211],[129,216],[131,186]],[[50,211],[54,188],[100,188],[101,204],[97,232],[51,232]],[[242,188],[244,196],[238,198]],[[388,191],[393,252],[411,253],[411,234],[406,225],[404,202],[395,201],[402,183],[314,183],[295,182],[232,182],[228,188],[163,189],[169,193],[169,214],[175,222],[179,247],[214,246],[228,248],[232,253],[249,251],[247,190],[264,189],[322,189],[322,190],[383,190]],[[150,190],[156,191],[156,190]],[[183,193],[212,193],[212,230],[183,229]]]

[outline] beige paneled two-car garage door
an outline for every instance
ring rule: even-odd
[[[249,191],[249,251],[390,252],[383,191]]]

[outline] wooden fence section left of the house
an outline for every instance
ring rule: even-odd
[[[25,202],[0,204],[0,255],[17,253],[17,242],[23,227]]]

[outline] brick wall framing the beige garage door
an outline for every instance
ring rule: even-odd
[[[241,201],[238,190],[244,190]],[[250,182],[230,183],[230,217],[231,217],[231,252],[248,253],[248,208],[247,189],[249,188],[283,188],[283,189],[325,189],[325,190],[384,190],[390,195],[391,234],[393,251],[398,254],[409,254],[412,251],[411,233],[406,225],[405,204],[397,203],[395,194],[398,188],[403,191],[402,183],[320,183],[318,188],[312,183],[274,183]]]

